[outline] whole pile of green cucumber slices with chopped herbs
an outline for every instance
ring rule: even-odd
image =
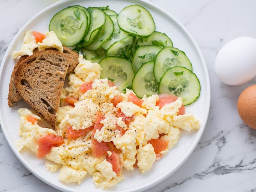
[[[152,15],[140,5],[119,14],[109,6],[74,5],[56,13],[49,24],[64,45],[100,63],[100,78],[113,79],[120,92],[128,87],[139,98],[174,94],[189,105],[200,95],[192,64],[168,35],[155,29]]]

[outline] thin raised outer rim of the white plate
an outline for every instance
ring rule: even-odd
[[[86,1],[86,0],[85,0]],[[195,39],[193,38],[193,36],[188,32],[188,30],[185,28],[185,26],[180,23],[180,21],[178,19],[176,19],[171,13],[167,12],[166,10],[164,10],[163,8],[161,8],[160,6],[148,1],[148,0],[135,0],[137,1],[138,3],[144,3],[144,4],[148,4],[152,7],[154,7],[155,9],[158,9],[159,11],[163,12],[164,14],[168,15],[168,17],[170,17],[172,20],[174,20],[176,22],[176,24],[186,33],[186,35],[190,38],[191,42],[193,43],[193,45],[196,47],[196,52],[198,53],[199,55],[199,58],[200,60],[202,61],[202,64],[203,64],[203,71],[204,71],[204,75],[205,75],[205,78],[206,78],[206,86],[205,86],[205,89],[207,89],[207,95],[206,95],[206,115],[205,115],[205,118],[204,118],[204,122],[201,122],[201,127],[200,127],[200,130],[201,131],[201,134],[197,135],[196,139],[194,140],[193,144],[191,145],[191,148],[189,148],[188,152],[185,153],[183,155],[183,157],[180,159],[180,164],[175,167],[171,172],[168,172],[167,174],[164,174],[163,177],[161,177],[161,179],[155,179],[153,181],[150,182],[150,184],[148,185],[143,185],[142,187],[137,187],[135,189],[133,189],[132,191],[133,192],[139,192],[139,191],[144,191],[148,188],[151,188],[155,185],[157,185],[158,183],[160,183],[161,181],[165,180],[167,177],[170,177],[174,172],[176,172],[181,165],[183,165],[186,160],[189,158],[189,156],[193,153],[193,151],[195,150],[198,142],[200,141],[203,133],[204,133],[204,129],[205,129],[205,126],[206,126],[206,123],[207,123],[207,120],[208,120],[208,116],[209,116],[209,110],[210,110],[210,101],[211,101],[211,87],[210,87],[210,78],[209,78],[209,73],[208,73],[208,69],[207,69],[207,65],[205,63],[205,60],[204,60],[204,56],[203,56],[203,53],[201,52],[198,44],[196,43]],[[68,3],[68,2],[72,2],[72,0],[61,0],[59,2],[56,2],[56,3],[53,3],[51,5],[49,5],[48,7],[44,8],[43,10],[41,10],[40,12],[38,12],[36,15],[34,15],[30,20],[28,20],[28,22],[22,27],[20,28],[19,32],[15,35],[15,37],[12,39],[11,43],[9,44],[5,54],[4,54],[4,57],[3,57],[3,60],[1,62],[1,66],[0,66],[0,79],[2,78],[2,73],[3,73],[3,68],[4,68],[4,63],[8,57],[8,53],[10,52],[10,49],[11,47],[13,46],[13,44],[15,43],[15,41],[17,40],[17,38],[20,36],[20,34],[23,32],[23,30],[33,21],[36,19],[36,17],[38,17],[39,15],[41,15],[42,13],[48,11],[49,9],[52,9],[54,7],[57,7],[61,4],[65,4],[65,3]],[[1,105],[1,104],[0,104]],[[2,119],[2,114],[1,114],[1,110],[0,110],[0,124],[3,125],[3,119]],[[69,188],[66,188],[66,186],[58,186],[54,183],[51,183],[50,181],[48,180],[45,180],[43,176],[41,176],[41,174],[37,173],[35,169],[33,169],[33,167],[30,167],[28,164],[25,163],[25,160],[21,154],[19,152],[16,152],[17,149],[15,147],[14,144],[12,144],[11,140],[9,139],[9,137],[7,137],[7,133],[5,132],[5,129],[2,128],[3,130],[3,133],[4,133],[4,137],[5,139],[7,140],[7,143],[8,145],[10,146],[10,148],[12,149],[12,152],[15,154],[15,156],[19,159],[19,161],[30,171],[32,172],[38,179],[42,180],[43,182],[45,182],[46,184],[52,186],[53,188],[56,188],[56,189],[59,189],[61,191],[70,191]],[[76,189],[72,189],[71,190],[72,192],[80,192],[79,190],[76,190]],[[128,190],[126,190],[128,192]]]

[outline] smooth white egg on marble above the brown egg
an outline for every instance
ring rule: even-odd
[[[256,75],[256,39],[239,37],[225,44],[215,60],[215,72],[228,85],[240,85]]]

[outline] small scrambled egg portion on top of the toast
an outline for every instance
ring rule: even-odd
[[[46,38],[42,43],[36,43],[35,37],[33,36],[32,31],[27,31],[25,33],[23,44],[21,45],[20,51],[14,51],[12,53],[12,59],[17,59],[22,55],[32,55],[34,49],[38,47],[39,51],[45,50],[47,48],[55,48],[58,49],[59,52],[63,52],[63,46],[60,40],[58,39],[56,33],[54,31],[46,31]]]

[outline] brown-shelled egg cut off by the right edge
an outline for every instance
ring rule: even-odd
[[[239,116],[249,127],[256,129],[256,85],[247,87],[237,101]]]

